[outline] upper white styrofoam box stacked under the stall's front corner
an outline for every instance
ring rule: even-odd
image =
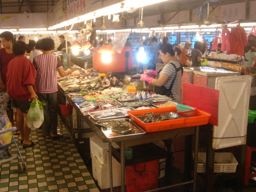
[[[120,148],[116,143],[111,143],[115,149]],[[90,137],[90,151],[91,157],[94,155],[100,162],[100,164],[109,163],[109,153],[108,153],[108,142],[103,143],[98,136]],[[112,162],[116,161],[112,157]]]

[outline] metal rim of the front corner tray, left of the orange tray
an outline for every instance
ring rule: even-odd
[[[110,120],[110,121],[123,121],[123,120],[127,120],[129,121],[131,124],[133,124],[136,128],[140,129],[142,131],[142,133],[138,133],[138,134],[128,134],[128,135],[122,135],[122,136],[114,136],[114,137],[109,137],[107,136],[107,134],[104,132],[104,130],[100,129],[103,134],[106,136],[106,138],[108,139],[109,142],[119,142],[119,141],[126,141],[126,140],[132,140],[132,139],[140,139],[143,137],[143,135],[146,133],[145,130],[143,130],[138,124],[136,124],[135,122],[133,122],[131,119],[128,118],[122,118],[122,119],[115,119],[115,120]],[[107,120],[104,120],[107,121]],[[98,124],[98,122],[104,122],[104,121],[97,121],[95,122],[96,124]]]

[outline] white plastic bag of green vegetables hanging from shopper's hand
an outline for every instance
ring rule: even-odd
[[[44,122],[43,106],[44,102],[39,102],[38,99],[33,100],[30,104],[27,115],[27,125],[30,129],[38,129]]]

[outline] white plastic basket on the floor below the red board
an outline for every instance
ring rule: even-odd
[[[232,153],[214,154],[214,173],[234,173],[238,162]],[[197,172],[204,173],[206,167],[206,153],[198,153]]]

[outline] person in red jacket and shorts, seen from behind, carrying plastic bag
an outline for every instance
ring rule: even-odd
[[[20,129],[20,142],[23,148],[33,147],[36,144],[29,140],[30,128],[26,117],[33,98],[38,98],[35,93],[36,70],[32,62],[26,58],[28,49],[25,42],[17,41],[12,50],[15,58],[8,64],[7,92],[12,98],[12,107],[17,110],[17,127]]]

